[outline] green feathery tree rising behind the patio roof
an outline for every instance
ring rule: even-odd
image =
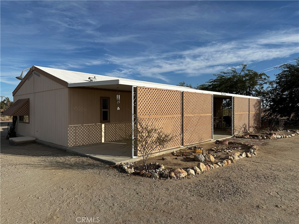
[[[264,85],[269,84],[270,77],[265,73],[248,69],[247,65],[241,64],[241,66],[240,72],[234,67],[222,71],[220,74],[214,74],[216,79],[210,79],[197,88],[247,96],[263,96],[265,94]]]

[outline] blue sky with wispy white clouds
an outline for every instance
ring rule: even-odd
[[[1,95],[38,65],[176,85],[298,57],[298,1],[1,1]]]

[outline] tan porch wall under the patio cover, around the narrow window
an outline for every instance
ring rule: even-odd
[[[131,92],[94,88],[69,88],[68,147],[111,142],[131,131]],[[100,122],[100,97],[110,97],[109,123]],[[117,110],[117,107],[120,110]]]

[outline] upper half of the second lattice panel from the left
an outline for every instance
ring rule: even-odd
[[[184,115],[211,114],[212,94],[184,92]]]

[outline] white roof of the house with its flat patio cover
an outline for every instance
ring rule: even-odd
[[[123,79],[123,78],[117,78],[111,76],[102,76],[102,75],[68,71],[68,70],[62,70],[56,68],[48,68],[48,67],[40,67],[40,66],[34,66],[34,67],[37,67],[51,74],[52,76],[55,76],[67,82],[68,87],[91,87],[91,88],[105,88],[105,89],[119,88],[119,90],[132,90],[132,86],[140,86],[140,87],[160,88],[160,89],[168,89],[168,90],[188,91],[188,92],[195,92],[195,93],[208,93],[208,94],[221,96],[222,98],[228,98],[229,96],[239,96],[239,97],[260,99],[259,97],[254,97],[254,96],[244,96],[244,95],[237,95],[231,93],[196,90],[193,88],[177,86],[177,85],[167,85],[167,84],[155,83],[155,82]],[[94,82],[90,82],[88,78],[94,76],[96,77],[97,80]]]

